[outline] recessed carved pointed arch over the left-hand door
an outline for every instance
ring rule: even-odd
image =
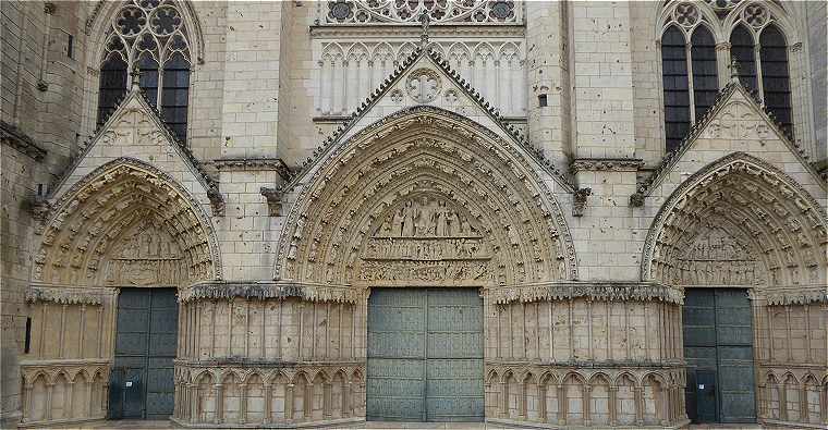
[[[199,204],[142,161],[121,158],[98,168],[54,207],[39,230],[35,282],[102,286],[114,282],[111,265],[130,267],[146,283],[183,286],[220,277],[215,233]],[[142,231],[147,226],[155,231]],[[153,237],[141,246],[129,243],[142,233]],[[156,269],[160,279],[154,281],[145,269]]]

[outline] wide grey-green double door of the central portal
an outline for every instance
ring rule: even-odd
[[[368,420],[482,421],[483,385],[476,288],[373,288]]]

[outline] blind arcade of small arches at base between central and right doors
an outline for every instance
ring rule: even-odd
[[[495,367],[486,415],[552,426],[670,426],[684,417],[682,378],[675,370]]]

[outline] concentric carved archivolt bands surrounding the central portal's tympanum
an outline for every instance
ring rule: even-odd
[[[475,285],[576,279],[565,220],[522,157],[515,148],[479,131],[478,125],[439,109],[421,107],[386,118],[327,155],[310,180],[294,180],[302,179],[308,185],[292,207],[280,237],[276,277],[331,285],[369,284],[377,275],[385,279],[381,273],[438,275],[443,271],[448,277],[460,277],[458,282]],[[424,180],[417,179],[421,176]],[[395,192],[389,194],[391,186]],[[485,268],[446,260],[404,263],[423,268],[415,272],[361,257],[382,221],[392,218],[410,198],[428,198],[438,206],[445,201],[447,207],[456,208],[452,211],[479,225],[486,241],[509,249],[508,254]],[[436,213],[430,207],[427,213]],[[338,214],[342,218],[337,219]],[[519,219],[526,221],[514,223]],[[374,268],[378,265],[385,266]],[[362,268],[368,267],[365,274]],[[361,278],[351,279],[353,273],[361,273]]]

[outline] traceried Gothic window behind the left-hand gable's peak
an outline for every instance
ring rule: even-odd
[[[132,75],[138,73],[149,103],[185,140],[192,60],[190,35],[175,2],[126,0],[106,32],[97,124],[106,122],[126,94]]]

